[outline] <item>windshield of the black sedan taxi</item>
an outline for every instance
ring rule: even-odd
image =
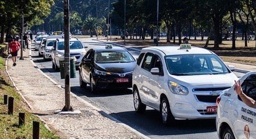
[[[134,62],[133,56],[126,50],[96,51],[96,63]]]

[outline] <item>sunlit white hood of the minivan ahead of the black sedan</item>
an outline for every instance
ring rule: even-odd
[[[174,81],[185,87],[207,86],[207,87],[232,87],[234,80],[238,80],[235,74],[213,74],[196,76],[174,76]]]

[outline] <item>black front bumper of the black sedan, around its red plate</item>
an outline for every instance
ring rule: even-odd
[[[128,78],[128,82],[117,82],[117,79]],[[96,82],[96,87],[101,89],[111,89],[111,88],[131,88],[132,74],[125,77],[119,76],[100,76],[97,74],[93,75],[93,80]]]

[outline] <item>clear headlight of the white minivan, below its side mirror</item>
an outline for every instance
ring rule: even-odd
[[[172,81],[168,81],[168,87],[172,93],[175,93],[178,95],[188,95],[188,88],[183,87],[180,84],[177,84]]]

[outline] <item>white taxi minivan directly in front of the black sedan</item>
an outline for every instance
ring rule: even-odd
[[[164,125],[214,119],[217,97],[237,80],[231,69],[213,52],[190,44],[142,48],[133,71],[134,108],[160,111]]]

